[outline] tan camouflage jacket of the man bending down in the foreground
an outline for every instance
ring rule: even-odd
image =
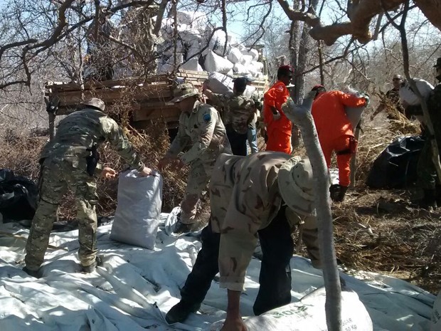
[[[245,273],[257,243],[257,231],[277,215],[282,197],[277,184],[280,167],[290,157],[282,152],[258,152],[247,157],[221,154],[210,182],[211,227],[221,233],[221,287],[243,290]],[[305,219],[289,210],[294,223]],[[308,219],[316,221],[312,216]],[[316,226],[317,227],[317,226]]]

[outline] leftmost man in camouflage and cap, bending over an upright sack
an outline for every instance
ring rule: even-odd
[[[58,205],[70,189],[75,195],[78,219],[78,258],[85,273],[91,273],[100,263],[97,255],[96,174],[115,177],[115,170],[98,164],[97,147],[109,141],[119,155],[142,176],[152,170],[144,166],[132,149],[117,122],[105,115],[105,103],[92,98],[83,103],[83,110],[73,112],[60,121],[53,141],[41,152],[39,180],[40,200],[33,217],[26,243],[26,273],[34,277],[43,263]]]

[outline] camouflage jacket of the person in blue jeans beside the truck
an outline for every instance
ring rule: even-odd
[[[212,101],[223,106],[223,122],[225,125],[231,125],[233,130],[240,134],[248,132],[248,124],[255,115],[255,105],[251,98],[240,94],[222,95],[213,93]]]

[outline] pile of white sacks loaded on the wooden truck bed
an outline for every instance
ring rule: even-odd
[[[216,71],[230,76],[252,75],[253,78],[262,78],[263,63],[258,61],[259,52],[246,48],[233,36],[227,37],[224,31],[213,33],[213,29],[208,26],[206,14],[200,11],[178,11],[177,21],[176,58],[174,19],[162,21],[163,42],[157,46],[161,54],[158,73],[170,72],[175,65],[181,65],[179,68],[184,70]]]

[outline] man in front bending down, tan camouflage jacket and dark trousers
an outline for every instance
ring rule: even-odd
[[[222,154],[211,177],[211,219],[202,231],[202,248],[181,289],[181,301],[166,315],[170,324],[196,312],[220,272],[228,289],[227,317],[222,330],[245,330],[239,314],[245,273],[260,238],[260,289],[256,315],[291,301],[294,244],[292,226],[304,222],[303,241],[320,268],[317,219],[308,159],[282,152],[258,152],[247,157]]]

